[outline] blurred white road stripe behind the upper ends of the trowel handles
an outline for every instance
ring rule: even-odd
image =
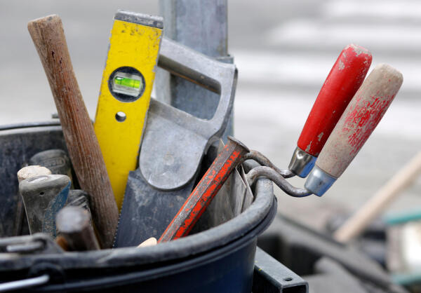
[[[421,34],[420,34],[421,35]],[[343,43],[345,47],[348,43]],[[232,50],[236,67],[239,69],[239,82],[253,84],[291,85],[300,90],[305,88],[321,88],[328,76],[337,53],[294,53],[273,51]],[[399,57],[383,57],[373,55],[370,70],[379,63],[387,63],[403,74],[401,93],[420,92],[421,94],[421,60]]]

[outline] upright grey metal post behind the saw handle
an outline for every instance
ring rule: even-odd
[[[160,0],[163,34],[194,50],[232,63],[227,53],[227,0]],[[213,117],[219,96],[194,83],[156,71],[156,99],[199,118]],[[233,115],[232,115],[233,116]],[[233,134],[232,116],[224,134]]]

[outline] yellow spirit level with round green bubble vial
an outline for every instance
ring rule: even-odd
[[[94,128],[119,209],[128,172],[137,165],[162,28],[159,17],[128,11],[114,16]]]

